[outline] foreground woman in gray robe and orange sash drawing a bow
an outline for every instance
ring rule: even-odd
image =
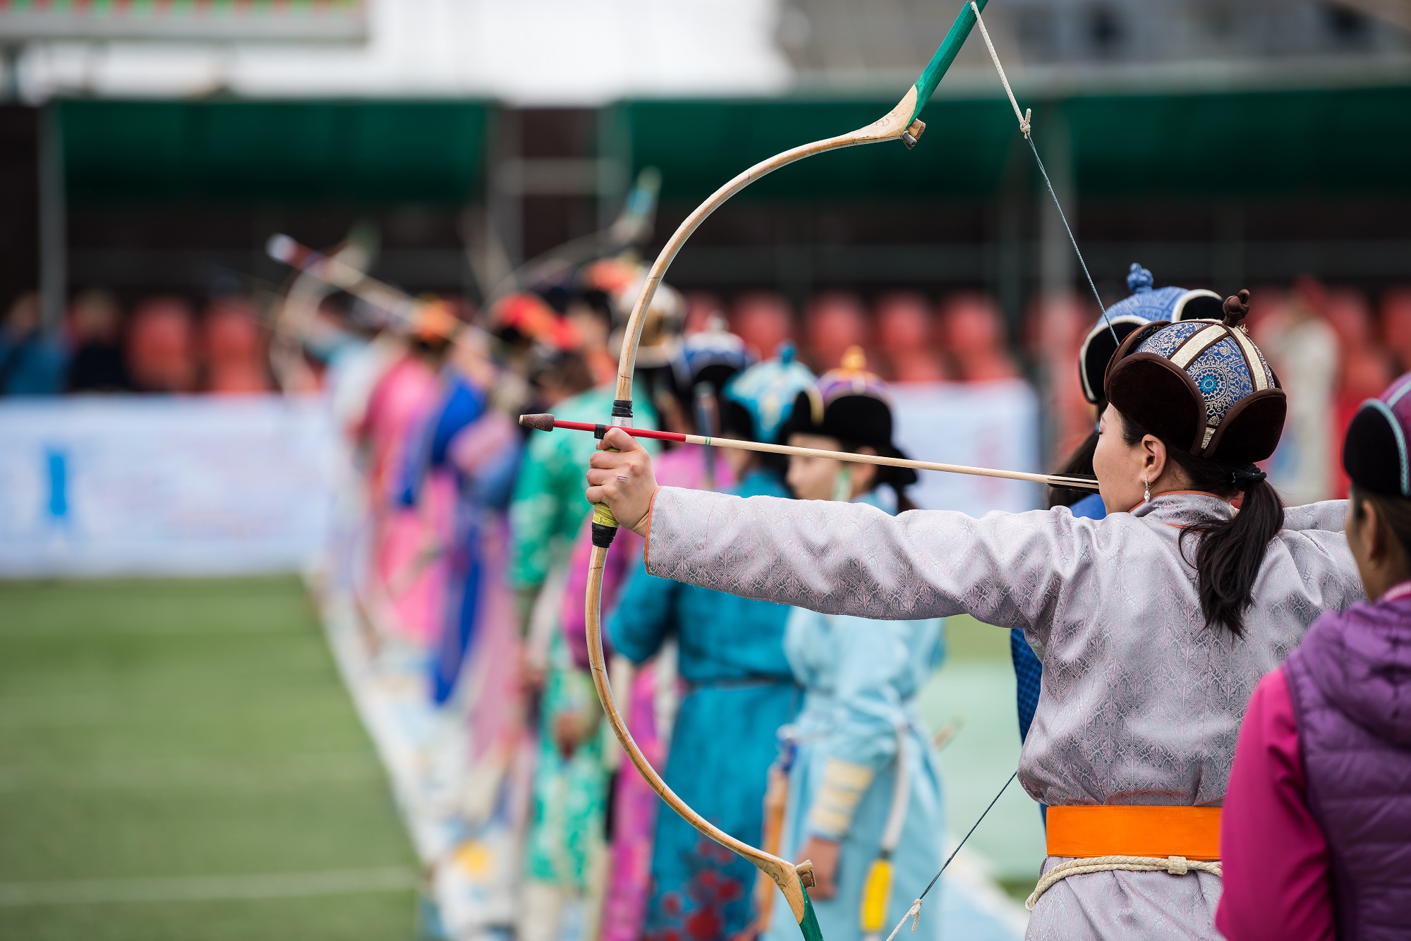
[[[1216,938],[1219,807],[1259,679],[1362,597],[1345,504],[1285,512],[1253,461],[1285,396],[1239,326],[1134,330],[1105,377],[1094,471],[1109,515],[916,511],[658,488],[608,432],[588,499],[663,577],[825,614],[971,614],[1022,628],[1043,690],[1019,779],[1050,807],[1031,938]],[[1242,497],[1236,512],[1230,501]]]

